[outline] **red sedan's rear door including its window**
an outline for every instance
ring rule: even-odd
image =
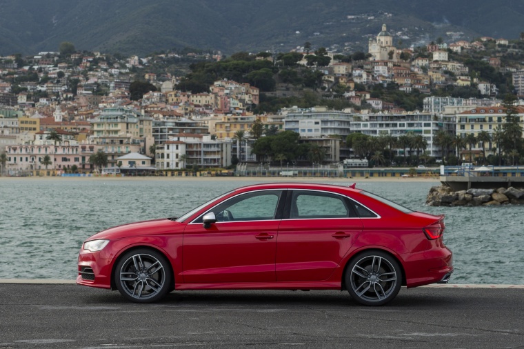
[[[276,243],[277,281],[328,279],[363,225],[349,199],[317,190],[290,190]]]

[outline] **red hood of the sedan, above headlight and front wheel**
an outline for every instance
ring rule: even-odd
[[[130,236],[139,235],[165,235],[177,234],[183,232],[184,223],[172,221],[168,218],[153,219],[150,221],[140,221],[137,223],[128,223],[102,230],[85,241],[95,239],[118,240]]]

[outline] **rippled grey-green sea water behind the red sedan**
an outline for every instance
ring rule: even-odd
[[[268,179],[1,179],[0,279],[74,279],[82,242],[132,221],[178,217],[223,192]],[[348,186],[352,180],[321,179]],[[524,206],[429,207],[438,181],[356,180],[412,210],[444,214],[450,283],[524,284]]]

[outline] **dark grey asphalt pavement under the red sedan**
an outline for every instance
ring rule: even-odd
[[[523,288],[183,291],[161,303],[74,284],[0,283],[0,348],[524,348]]]

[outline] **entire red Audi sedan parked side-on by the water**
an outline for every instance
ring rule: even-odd
[[[347,290],[380,306],[403,285],[448,281],[443,220],[354,185],[247,186],[178,218],[93,235],[77,283],[137,303],[172,290]]]

